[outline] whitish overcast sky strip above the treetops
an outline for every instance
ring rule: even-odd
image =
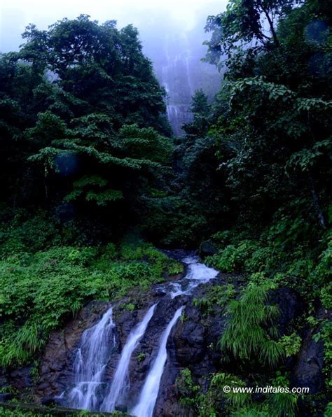
[[[74,18],[81,13],[94,20],[117,20],[118,27],[132,23],[144,41],[144,26],[165,18],[170,27],[176,24],[190,30],[207,15],[225,10],[227,0],[0,0],[0,52],[17,50],[21,34],[29,23],[46,29],[63,17]]]

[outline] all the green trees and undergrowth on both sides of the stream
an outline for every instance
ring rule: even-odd
[[[240,280],[193,300],[205,318],[226,316],[223,361],[204,391],[183,370],[181,404],[198,416],[293,416],[297,395],[221,391],[289,386],[285,364],[310,330],[324,342],[324,387],[300,400],[328,415],[331,323],[317,311],[332,308],[331,19],[329,0],[230,0],[206,26],[221,90],[212,104],[195,92],[175,139],[137,29],[86,15],[27,27],[20,51],[0,56],[0,365],[31,362],[90,300],[181,273],[129,232],[168,247],[209,239],[207,264]],[[284,334],[280,288],[303,302]]]

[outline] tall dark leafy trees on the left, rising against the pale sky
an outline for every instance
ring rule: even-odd
[[[165,92],[137,29],[81,15],[23,38],[0,58],[3,198],[134,223],[172,154]]]

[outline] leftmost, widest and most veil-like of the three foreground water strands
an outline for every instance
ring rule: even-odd
[[[81,347],[74,361],[76,386],[69,393],[69,406],[77,409],[97,409],[97,390],[102,383],[104,369],[111,348],[115,346],[112,307],[95,326],[83,332]]]

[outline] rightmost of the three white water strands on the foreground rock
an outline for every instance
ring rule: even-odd
[[[162,372],[164,371],[165,363],[167,360],[167,339],[175,323],[177,323],[177,320],[181,316],[183,309],[184,306],[181,306],[179,309],[177,309],[172,320],[170,323],[168,323],[165,331],[162,333],[157,358],[155,358],[155,361],[153,362],[153,365],[148,372],[144,387],[141,390],[141,394],[139,395],[139,402],[131,411],[134,416],[153,416],[153,409],[158,397]]]

